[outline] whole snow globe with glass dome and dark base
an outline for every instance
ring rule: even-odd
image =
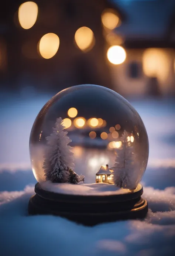
[[[84,225],[144,218],[148,204],[139,182],[148,152],[141,117],[118,93],[98,85],[57,93],[31,130],[38,182],[29,214],[59,215]]]

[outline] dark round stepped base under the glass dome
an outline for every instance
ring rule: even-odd
[[[117,195],[69,195],[46,191],[37,183],[28,213],[52,214],[87,226],[124,219],[144,218],[148,204],[138,184],[132,192]]]

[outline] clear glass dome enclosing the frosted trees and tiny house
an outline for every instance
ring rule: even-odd
[[[61,166],[83,174],[85,184],[134,189],[147,167],[148,151],[147,132],[137,111],[118,93],[98,85],[57,93],[42,107],[30,135],[32,171],[38,182],[68,182],[53,178]]]

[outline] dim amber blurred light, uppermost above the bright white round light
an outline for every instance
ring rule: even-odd
[[[104,27],[114,29],[119,23],[119,17],[114,13],[113,10],[107,9],[102,13],[102,23]]]

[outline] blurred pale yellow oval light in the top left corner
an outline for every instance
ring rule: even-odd
[[[22,28],[33,27],[38,16],[38,6],[34,2],[25,2],[18,9],[18,19]]]

